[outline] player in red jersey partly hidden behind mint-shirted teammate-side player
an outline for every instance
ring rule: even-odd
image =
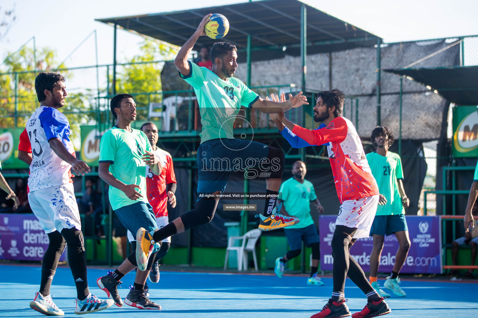
[[[158,143],[158,127],[156,127],[154,123],[143,123],[141,125],[141,131],[146,134],[154,154],[156,154],[163,163],[163,170],[159,175],[153,174],[149,166],[146,165],[146,194],[154,211],[156,224],[158,228],[162,228],[169,223],[168,202],[172,207],[176,206],[176,196],[174,195],[174,192],[176,192],[176,177],[174,175],[173,158],[167,151],[156,146]],[[131,244],[136,244],[135,238],[130,231],[128,231],[128,239]],[[157,283],[160,277],[158,261],[168,253],[170,246],[171,236],[163,239],[161,249],[154,259],[152,269],[148,276],[153,283]],[[145,286],[145,290],[146,289],[147,287]]]

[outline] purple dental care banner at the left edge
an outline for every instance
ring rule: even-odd
[[[41,261],[48,248],[48,236],[33,214],[1,213],[0,235],[0,259]]]

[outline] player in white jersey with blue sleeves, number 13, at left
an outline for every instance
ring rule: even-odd
[[[90,171],[87,164],[76,159],[70,141],[70,124],[63,113],[66,98],[65,77],[58,73],[41,72],[35,78],[35,90],[40,102],[26,123],[32,145],[28,201],[33,213],[48,235],[48,248],[43,255],[40,291],[30,303],[34,310],[48,316],[62,316],[50,296],[50,286],[65,244],[68,264],[76,284],[76,314],[86,314],[113,305],[88,290],[87,262],[80,214],[76,205],[70,169],[76,175]]]

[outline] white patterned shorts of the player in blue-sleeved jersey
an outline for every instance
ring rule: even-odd
[[[28,202],[46,234],[73,227],[81,231],[72,183],[30,191]]]

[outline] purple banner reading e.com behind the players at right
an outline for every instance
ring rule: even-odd
[[[439,216],[405,216],[410,235],[410,250],[401,273],[441,273],[441,223]],[[319,216],[320,268],[332,270],[333,257],[330,246],[335,230],[336,215]],[[390,273],[395,264],[399,244],[395,235],[385,236],[380,256],[379,272]],[[364,272],[370,270],[372,237],[359,238],[350,249],[350,255],[359,263]]]

